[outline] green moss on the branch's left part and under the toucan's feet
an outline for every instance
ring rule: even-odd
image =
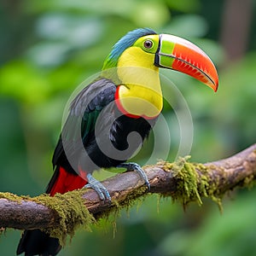
[[[112,207],[109,207],[109,211],[104,211],[104,213],[96,215],[96,218],[108,219],[110,213],[111,218],[118,218],[120,209],[125,207],[128,210],[131,205],[135,203],[135,199],[143,195],[146,189],[147,188],[143,186],[140,189],[131,190],[131,193],[125,197],[124,201],[112,201]],[[0,198],[5,198],[9,201],[17,201],[19,203],[21,203],[21,201],[34,201],[54,210],[58,221],[54,224],[54,227],[44,229],[43,231],[52,237],[58,238],[63,246],[66,243],[67,236],[72,238],[75,230],[79,226],[90,230],[90,224],[95,223],[95,218],[84,206],[83,195],[84,189],[80,189],[67,192],[64,195],[56,194],[55,196],[49,196],[43,194],[36,197],[18,196],[7,192],[0,193]]]

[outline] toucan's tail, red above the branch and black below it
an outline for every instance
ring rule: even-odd
[[[67,172],[63,167],[57,166],[51,177],[46,193],[53,196],[56,193],[64,194],[67,191],[81,189],[87,181],[77,173]],[[58,239],[49,237],[41,230],[25,230],[17,247],[17,255],[25,253],[25,256],[41,255],[54,256],[61,250]]]

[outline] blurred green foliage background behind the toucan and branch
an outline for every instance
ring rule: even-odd
[[[44,191],[67,99],[101,70],[113,44],[137,27],[187,38],[218,67],[216,94],[181,73],[162,71],[189,105],[193,161],[222,159],[255,143],[255,11],[255,0],[2,0],[0,190],[18,195]],[[175,119],[172,108],[166,107],[165,114]],[[169,160],[177,150],[176,132],[174,127]],[[139,163],[151,144],[137,156]],[[253,256],[255,197],[256,189],[235,191],[224,199],[220,214],[211,201],[183,212],[169,198],[148,196],[119,218],[100,221],[92,232],[78,230],[60,256]],[[19,230],[2,234],[0,254],[15,255],[19,238]]]

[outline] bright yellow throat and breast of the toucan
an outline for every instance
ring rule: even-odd
[[[154,118],[163,108],[159,68],[154,66],[154,55],[139,47],[125,49],[119,57],[119,104],[125,113]]]

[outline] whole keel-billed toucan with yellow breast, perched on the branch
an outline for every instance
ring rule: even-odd
[[[85,186],[110,201],[108,190],[91,173],[118,166],[136,170],[149,188],[140,166],[125,161],[148,137],[162,110],[160,67],[187,73],[218,89],[216,68],[195,44],[148,28],[128,32],[113,46],[98,78],[73,99],[46,193],[63,194]],[[139,137],[133,137],[135,133]],[[56,255],[60,249],[58,240],[41,230],[26,230],[17,254]]]

